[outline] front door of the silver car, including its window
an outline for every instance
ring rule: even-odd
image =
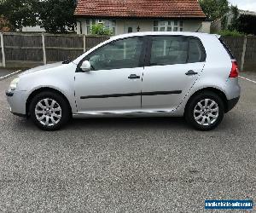
[[[96,49],[89,72],[76,72],[79,113],[131,111],[141,107],[143,38],[130,37]]]

